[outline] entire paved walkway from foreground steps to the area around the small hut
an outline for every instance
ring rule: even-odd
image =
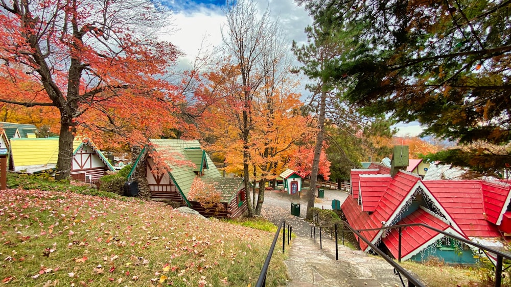
[[[346,197],[345,192],[325,190],[324,198],[316,199],[315,207],[331,209],[333,199],[340,200],[342,204]],[[290,215],[291,202],[301,204],[300,217]],[[306,208],[305,197],[286,192],[265,192],[261,214],[274,223],[285,218],[297,236],[289,247],[286,245],[289,258],[285,263],[291,278],[288,286],[402,286],[393,268],[381,258],[339,244],[339,260],[336,260],[335,242],[328,236],[322,237],[320,249],[319,230],[316,229],[316,243],[310,237],[311,225],[304,219]]]

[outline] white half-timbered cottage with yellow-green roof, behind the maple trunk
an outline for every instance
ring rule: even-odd
[[[53,172],[57,165],[59,138],[11,139],[10,170],[23,173]],[[97,182],[106,171],[114,171],[103,153],[88,140],[73,142],[71,177],[84,182]]]

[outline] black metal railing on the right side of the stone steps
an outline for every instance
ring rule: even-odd
[[[324,226],[311,226],[311,237],[314,234],[314,242],[316,242],[316,227],[319,228],[319,248],[322,249],[322,229],[324,228],[331,228],[334,227],[334,233],[335,233],[335,259],[339,259],[339,250],[338,250],[338,224],[342,224],[342,244],[344,245],[344,231],[351,231],[355,236],[358,238],[358,250],[360,250],[360,240],[364,241],[373,251],[378,253],[383,259],[385,259],[393,268],[394,268],[394,274],[398,275],[401,283],[403,286],[405,286],[405,283],[403,281],[403,278],[401,277],[401,274],[403,274],[404,277],[408,279],[408,286],[424,286],[423,283],[421,283],[419,280],[417,280],[413,275],[411,275],[408,271],[406,271],[404,268],[402,268],[398,263],[396,263],[392,258],[390,258],[387,254],[385,254],[382,250],[380,250],[378,247],[376,247],[373,243],[371,243],[369,240],[367,240],[364,236],[360,234],[361,231],[375,231],[375,230],[384,230],[384,229],[398,229],[398,262],[401,262],[401,233],[403,228],[412,227],[412,226],[422,226],[425,228],[428,228],[430,230],[433,230],[438,233],[442,233],[445,236],[452,238],[454,240],[463,242],[465,244],[477,247],[479,250],[479,253],[483,253],[490,259],[490,262],[494,265],[495,270],[495,287],[501,287],[502,284],[502,272],[508,269],[511,266],[508,266],[506,268],[503,268],[503,259],[511,259],[511,254],[504,253],[500,250],[496,250],[494,248],[484,246],[481,244],[478,244],[476,242],[464,239],[462,237],[458,237],[454,234],[447,233],[443,230],[437,229],[435,227],[423,224],[423,223],[414,223],[414,224],[400,224],[400,225],[393,225],[393,226],[385,226],[381,228],[371,228],[371,229],[354,229],[350,224],[348,224],[345,221],[338,221],[335,223],[331,223],[329,225]],[[347,229],[344,229],[346,227]],[[494,262],[495,261],[495,262]]]

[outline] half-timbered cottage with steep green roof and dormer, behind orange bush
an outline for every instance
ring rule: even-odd
[[[171,200],[176,204],[194,208],[202,215],[212,216],[213,214],[206,212],[198,202],[189,199],[192,182],[198,176],[222,193],[221,204],[225,205],[225,208],[215,216],[238,217],[247,210],[243,178],[221,177],[199,141],[149,141],[150,145],[142,150],[128,175],[138,181],[141,196]],[[146,180],[147,184],[144,182]],[[148,194],[145,194],[143,185],[148,186]]]

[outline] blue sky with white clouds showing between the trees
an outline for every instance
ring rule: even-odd
[[[167,0],[166,4],[173,13],[172,32],[165,33],[163,39],[177,45],[184,53],[178,60],[179,67],[189,69],[193,59],[199,51],[212,51],[215,46],[222,44],[221,29],[225,24],[222,9],[224,0]],[[270,15],[281,23],[289,46],[295,40],[305,43],[307,36],[304,29],[312,23],[311,17],[303,7],[299,7],[293,0],[260,0],[259,10],[263,12],[267,7]],[[305,89],[304,93],[305,93]],[[307,95],[302,97],[307,98]],[[397,136],[417,136],[422,132],[419,123],[397,124]]]

